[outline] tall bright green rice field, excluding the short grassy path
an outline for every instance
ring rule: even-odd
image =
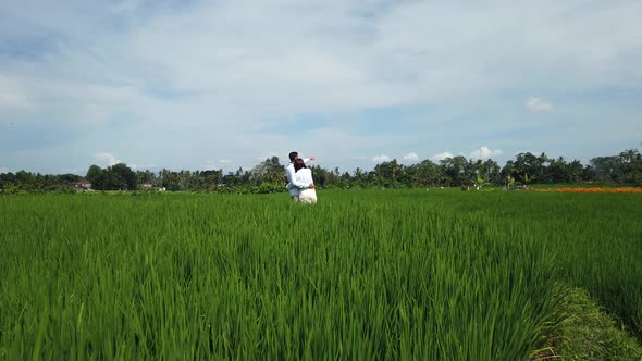
[[[642,195],[0,197],[0,359],[520,360],[583,289],[642,339]]]

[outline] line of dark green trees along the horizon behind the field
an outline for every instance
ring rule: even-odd
[[[215,192],[275,192],[285,191],[284,164],[277,157],[266,159],[251,170],[236,172],[211,171],[133,171],[124,163],[108,167],[91,165],[83,177],[75,174],[42,175],[26,171],[0,174],[0,190],[13,191],[71,191],[86,179],[95,190],[187,190]],[[379,163],[371,171],[356,169],[341,172],[311,165],[319,188],[411,188],[502,186],[516,187],[532,184],[627,184],[642,185],[642,155],[638,149],[628,149],[617,155],[597,157],[582,164],[563,157],[548,158],[530,152],[519,153],[504,166],[494,160],[472,160],[462,155],[439,162],[423,160],[404,165],[397,160]],[[81,184],[82,186],[82,184]]]

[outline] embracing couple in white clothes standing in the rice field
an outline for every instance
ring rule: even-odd
[[[285,167],[287,175],[287,190],[294,201],[304,203],[316,203],[317,191],[314,190],[314,180],[312,171],[306,166],[306,163],[313,161],[314,157],[301,159],[295,151],[289,153],[289,164]]]

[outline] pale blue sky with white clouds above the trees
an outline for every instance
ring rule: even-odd
[[[642,149],[642,1],[0,2],[0,173]]]

